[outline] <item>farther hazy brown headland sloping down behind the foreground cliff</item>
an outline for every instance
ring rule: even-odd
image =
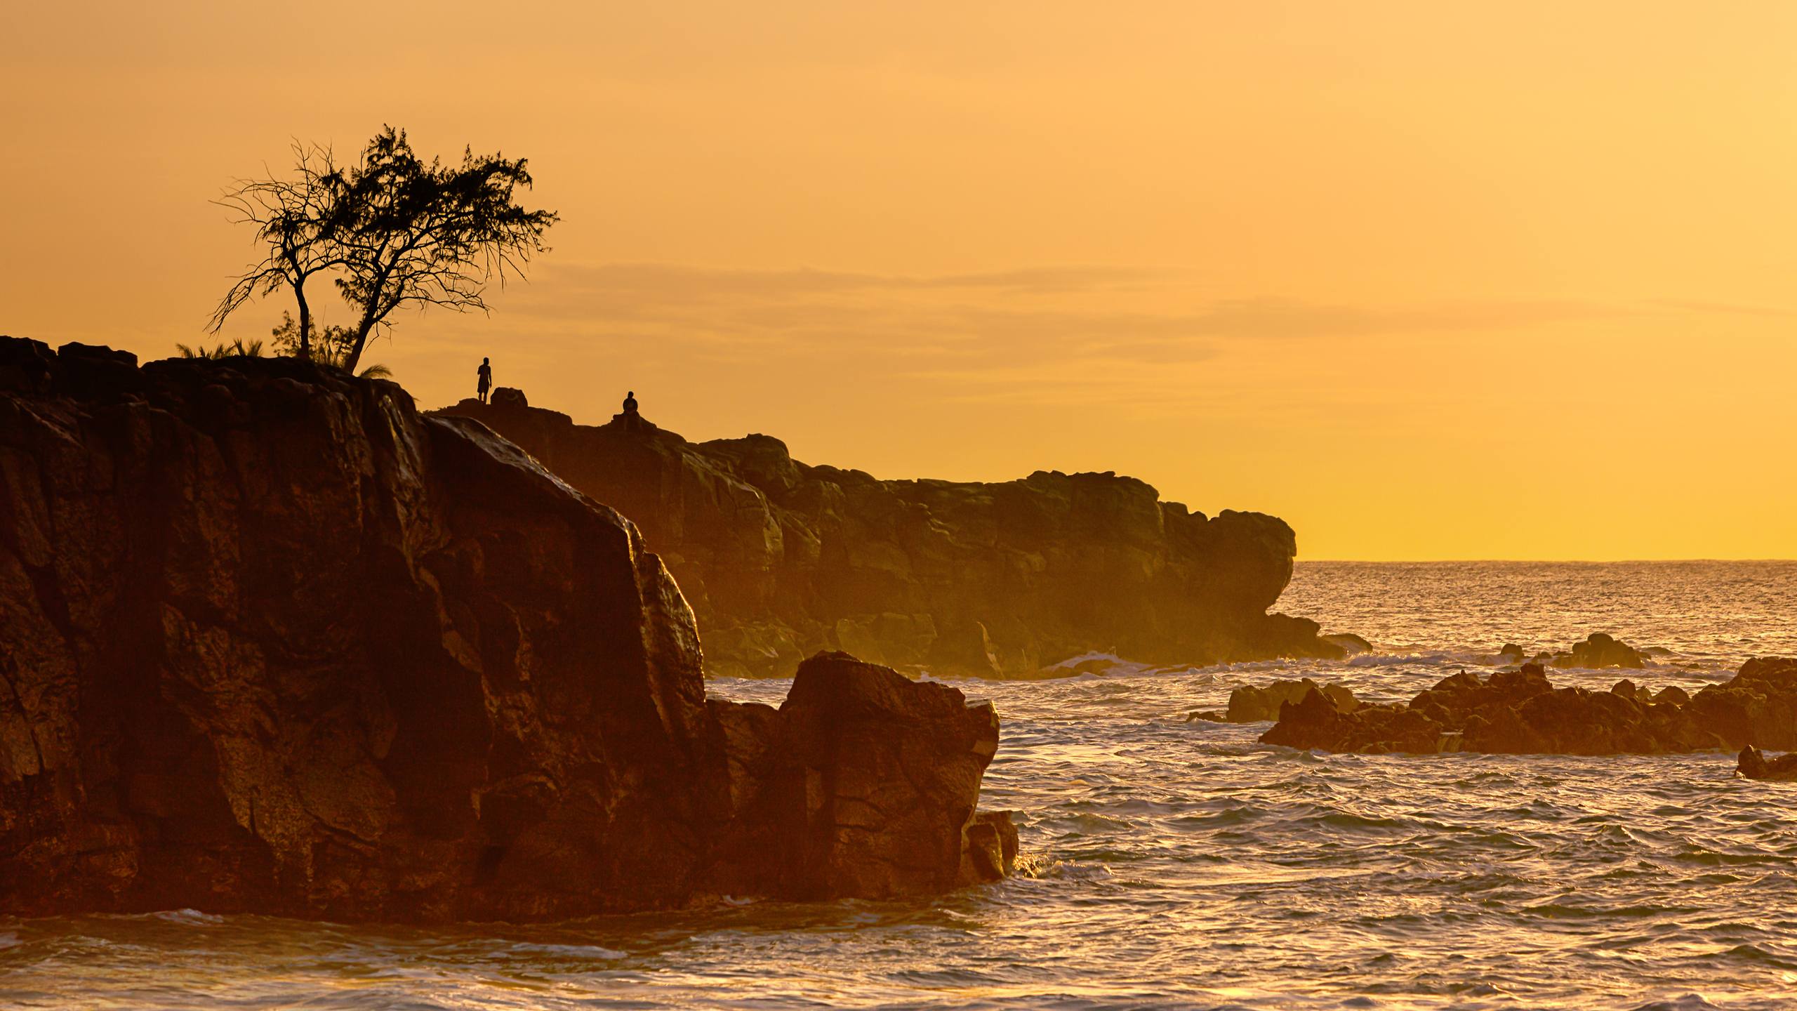
[[[476,417],[636,520],[686,590],[708,673],[785,676],[818,649],[1017,676],[1091,651],[1146,662],[1341,657],[1269,615],[1292,576],[1281,520],[1215,518],[1112,473],[1001,484],[875,480],[778,439],[688,443],[640,416],[582,426],[498,394]]]

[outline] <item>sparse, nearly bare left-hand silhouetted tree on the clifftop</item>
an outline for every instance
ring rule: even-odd
[[[293,178],[243,178],[216,201],[235,212],[234,221],[255,225],[255,237],[268,243],[268,255],[232,284],[207,329],[217,333],[252,295],[291,288],[300,308],[295,353],[309,358],[313,309],[305,300],[305,282],[343,266],[340,236],[350,219],[350,205],[345,201],[349,183],[329,148],[295,142],[293,158]]]

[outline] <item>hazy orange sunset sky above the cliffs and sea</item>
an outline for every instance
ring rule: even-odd
[[[392,122],[562,212],[491,318],[374,345],[426,407],[491,354],[1305,558],[1797,556],[1797,4],[208,7],[0,14],[0,333],[198,340],[252,255],[207,201]]]

